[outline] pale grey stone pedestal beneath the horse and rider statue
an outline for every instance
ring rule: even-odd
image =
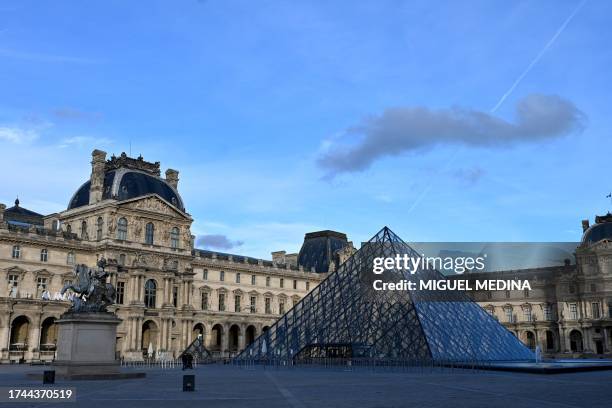
[[[139,374],[119,371],[115,344],[121,319],[113,313],[65,313],[56,323],[59,333],[53,365],[60,378],[93,380]]]

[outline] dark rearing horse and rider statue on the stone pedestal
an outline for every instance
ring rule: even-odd
[[[106,308],[115,303],[115,288],[106,283],[106,260],[101,258],[97,266],[94,269],[84,264],[75,265],[72,272],[76,282],[67,283],[61,291],[62,295],[68,289],[76,294],[72,296],[70,312],[106,312]]]

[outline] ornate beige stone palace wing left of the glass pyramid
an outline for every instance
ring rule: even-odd
[[[333,231],[306,234],[299,254],[271,261],[195,249],[177,171],[162,178],[159,162],[99,150],[91,164],[66,211],[0,204],[1,362],[54,358],[55,320],[70,306],[59,292],[76,264],[108,261],[121,358],[142,360],[150,348],[177,356],[198,335],[213,355],[231,356],[352,251]]]

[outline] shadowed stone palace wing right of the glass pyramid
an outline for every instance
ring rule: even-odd
[[[612,358],[612,215],[596,217],[592,226],[585,220],[582,227],[575,262],[467,277],[529,280],[531,291],[472,297],[530,348],[540,346],[549,357]]]

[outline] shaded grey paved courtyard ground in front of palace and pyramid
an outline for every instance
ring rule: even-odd
[[[26,378],[43,367],[0,366],[0,387],[37,386]],[[76,387],[76,403],[1,406],[120,407],[611,407],[612,371],[537,375],[467,370],[344,371],[330,368],[139,369],[145,379],[58,381]],[[182,375],[196,391],[182,392]]]

